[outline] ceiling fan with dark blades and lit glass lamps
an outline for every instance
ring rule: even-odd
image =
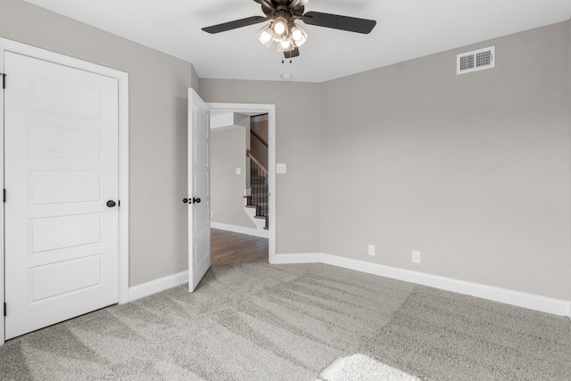
[[[307,40],[307,32],[295,23],[301,20],[308,25],[347,30],[350,32],[368,34],[377,21],[358,19],[355,17],[322,12],[305,12],[305,4],[309,0],[254,0],[261,4],[261,10],[266,15],[246,17],[236,21],[228,21],[211,27],[203,28],[208,33],[220,33],[227,30],[247,27],[264,21],[270,21],[256,33],[256,37],[264,46],[277,42],[277,51],[283,52],[285,58],[300,55],[299,47]]]

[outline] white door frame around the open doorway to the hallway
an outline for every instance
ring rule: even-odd
[[[217,112],[268,113],[269,263],[276,260],[276,105],[208,103]]]

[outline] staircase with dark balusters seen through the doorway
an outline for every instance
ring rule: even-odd
[[[254,211],[254,219],[263,220],[263,228],[269,229],[268,170],[246,150],[250,158],[250,195],[244,195],[245,207]]]

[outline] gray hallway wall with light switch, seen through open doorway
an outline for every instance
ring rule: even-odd
[[[256,228],[244,211],[245,152],[245,127],[211,131],[211,222]]]

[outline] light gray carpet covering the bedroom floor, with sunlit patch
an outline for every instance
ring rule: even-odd
[[[9,340],[0,378],[569,380],[571,323],[322,264],[219,266]]]

